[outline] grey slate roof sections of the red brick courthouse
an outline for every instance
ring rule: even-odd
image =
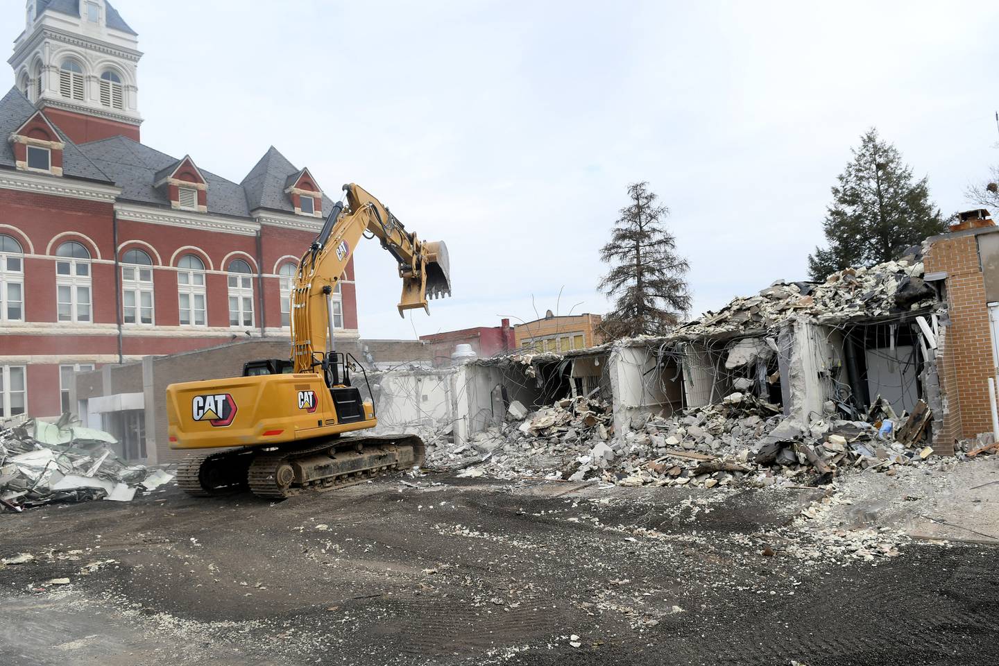
[[[16,87],[0,99],[0,169],[14,169],[14,151],[7,139],[38,113]],[[56,128],[58,130],[58,128]],[[126,137],[117,136],[86,144],[74,144],[59,131],[63,150],[63,177],[114,184],[122,189],[121,200],[170,208],[164,188],[154,185],[181,163],[176,158]],[[208,185],[208,212],[249,218],[257,209],[295,213],[285,190],[305,171],[273,146],[250,170],[242,183],[199,171]],[[333,210],[333,201],[323,197],[323,211]]]

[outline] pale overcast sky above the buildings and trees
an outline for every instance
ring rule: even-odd
[[[391,257],[358,250],[365,337],[603,313],[635,181],[671,210],[696,314],[806,277],[871,126],[944,213],[999,164],[994,0],[113,4],[145,53],[144,143],[237,182],[274,144],[447,242],[454,298],[405,321]]]

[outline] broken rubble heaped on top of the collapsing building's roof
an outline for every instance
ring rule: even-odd
[[[716,313],[681,325],[675,335],[769,330],[793,317],[818,323],[843,322],[855,316],[880,317],[932,306],[932,288],[923,282],[916,255],[870,268],[844,269],[824,283],[778,281],[752,297],[739,297]]]

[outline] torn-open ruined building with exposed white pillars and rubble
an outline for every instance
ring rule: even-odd
[[[381,417],[422,427],[428,465],[474,474],[710,487],[922,461],[946,410],[946,308],[921,252],[778,281],[661,337],[437,370],[436,421]]]

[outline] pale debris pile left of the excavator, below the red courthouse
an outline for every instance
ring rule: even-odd
[[[130,501],[138,490],[153,490],[173,478],[162,469],[125,462],[110,448],[116,443],[103,430],[64,419],[0,427],[0,511],[102,497]]]

